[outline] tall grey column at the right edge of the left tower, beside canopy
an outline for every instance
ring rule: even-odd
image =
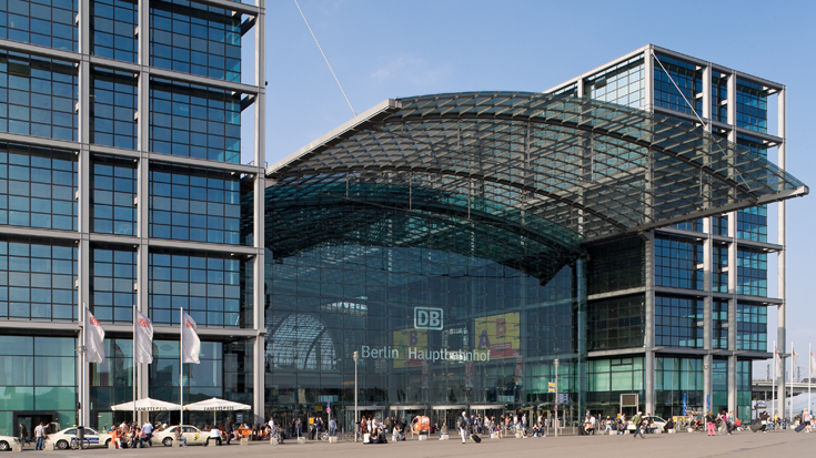
[[[255,413],[255,421],[264,421],[265,406],[265,299],[266,299],[266,281],[265,281],[265,210],[264,210],[264,191],[266,189],[265,166],[266,166],[266,4],[265,0],[258,0],[259,14],[255,20],[255,84],[258,85],[258,95],[255,96],[254,114],[255,114],[255,151],[254,161],[258,166],[254,183],[254,272],[253,272],[253,319],[255,329],[254,358],[253,358],[253,396],[252,408]]]

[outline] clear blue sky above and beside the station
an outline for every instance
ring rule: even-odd
[[[543,91],[647,43],[783,83],[787,170],[816,185],[816,2],[299,2],[357,113],[389,98]],[[268,0],[266,16],[266,161],[272,164],[353,115],[294,1]],[[809,289],[814,203],[813,196],[788,202],[787,352],[789,342],[796,343],[803,377],[807,344],[816,340]],[[769,261],[775,264],[775,257]],[[769,271],[772,296],[775,275]],[[768,312],[775,317],[775,309]],[[756,375],[765,374],[764,364],[755,366]]]

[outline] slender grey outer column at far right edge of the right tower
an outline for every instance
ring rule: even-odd
[[[785,150],[787,146],[787,102],[786,102],[787,89],[783,88],[779,91],[777,100],[777,135],[782,139],[782,143],[777,147],[777,165],[779,169],[785,170],[787,167]],[[782,245],[782,251],[776,257],[776,284],[777,292],[776,296],[782,299],[782,304],[776,309],[776,345],[780,349],[780,355],[785,354],[786,346],[786,325],[787,325],[787,301],[786,301],[786,283],[785,283],[785,269],[787,259],[787,224],[786,224],[786,203],[782,201],[777,204],[777,241],[776,243]],[[785,406],[785,359],[783,358],[783,370],[779,372],[776,380],[777,386],[777,399],[779,399],[779,406]],[[793,376],[793,374],[792,374]],[[782,409],[779,409],[782,410]],[[783,415],[780,411],[779,415]]]

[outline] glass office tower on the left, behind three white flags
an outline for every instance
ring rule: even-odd
[[[139,397],[179,401],[183,308],[204,340],[187,401],[254,405],[263,252],[241,237],[260,220],[241,199],[263,189],[264,14],[263,0],[0,1],[0,434],[124,419],[110,406],[133,396],[134,306],[155,326]],[[83,305],[102,364],[80,364]]]

